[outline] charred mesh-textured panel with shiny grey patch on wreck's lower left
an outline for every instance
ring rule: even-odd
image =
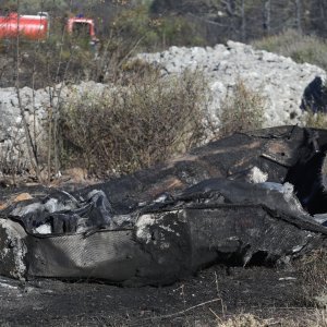
[[[51,238],[28,237],[28,275],[57,278],[96,278],[120,282],[146,265],[146,254],[132,231],[98,231]]]

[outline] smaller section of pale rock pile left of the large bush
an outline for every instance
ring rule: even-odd
[[[47,147],[45,125],[48,123],[49,112],[56,114],[60,104],[85,93],[98,97],[106,87],[109,86],[92,81],[37,90],[24,87],[20,89],[21,107],[15,87],[0,88],[0,173],[7,168],[25,170],[29,167],[22,112],[28,124],[32,142],[40,152]]]

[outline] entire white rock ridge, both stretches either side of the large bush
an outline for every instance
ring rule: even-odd
[[[301,123],[301,99],[305,87],[326,72],[312,64],[298,64],[290,58],[255,50],[251,46],[228,41],[227,46],[214,48],[178,48],[158,53],[141,53],[138,59],[159,64],[162,74],[180,74],[185,69],[203,71],[209,82],[211,95],[209,113],[217,117],[219,104],[232,89],[238,80],[243,80],[252,89],[259,90],[266,97],[266,126]],[[49,110],[59,102],[66,102],[72,97],[93,94],[99,97],[105,85],[84,82],[75,86],[57,86],[33,90],[24,87],[20,90],[21,104],[33,137],[38,146],[45,138],[44,124]],[[35,133],[34,133],[35,126]],[[0,89],[0,165],[17,162],[24,169],[28,165],[17,93],[14,87]],[[0,171],[3,167],[0,167]]]

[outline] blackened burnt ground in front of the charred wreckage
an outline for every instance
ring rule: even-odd
[[[294,277],[290,269],[214,266],[162,288],[1,278],[0,325],[217,326],[217,316],[240,312],[271,317],[301,310]]]

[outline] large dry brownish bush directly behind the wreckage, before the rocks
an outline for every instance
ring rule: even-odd
[[[198,73],[143,75],[62,110],[65,166],[92,174],[129,173],[167,160],[205,136],[205,81]]]

